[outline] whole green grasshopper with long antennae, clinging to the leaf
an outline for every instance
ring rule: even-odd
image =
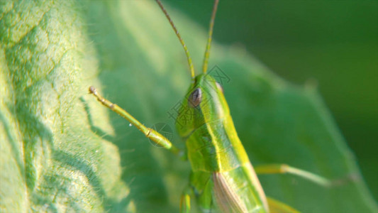
[[[104,99],[94,87],[89,87],[89,92],[101,104],[142,131],[150,141],[189,160],[191,175],[189,185],[181,197],[181,212],[190,212],[193,209],[191,199],[196,200],[201,212],[297,212],[287,204],[267,198],[256,172],[291,173],[321,185],[329,185],[329,182],[318,175],[289,165],[264,165],[255,168],[255,172],[235,131],[221,85],[211,75],[206,75],[218,0],[215,0],[211,15],[203,73],[196,76],[184,40],[162,3],[156,1],[184,48],[191,73],[192,82],[177,117],[178,120],[185,116],[186,122],[176,123],[179,135],[186,141],[186,150],[180,151],[165,136],[144,126],[127,111]]]

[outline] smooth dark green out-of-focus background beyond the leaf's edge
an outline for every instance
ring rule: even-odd
[[[208,28],[213,1],[165,2]],[[376,200],[377,11],[378,1],[221,1],[213,33],[290,82],[316,80]]]

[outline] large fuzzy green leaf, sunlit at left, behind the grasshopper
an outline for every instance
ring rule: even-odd
[[[206,31],[167,7],[197,70]],[[209,11],[210,13],[210,11]],[[268,196],[303,212],[377,212],[316,89],[279,79],[214,44],[209,67],[254,165],[287,163],[341,184],[262,175]],[[190,166],[96,102],[90,85],[146,126],[167,123],[190,77],[153,1],[1,1],[0,211],[177,212]],[[174,133],[172,141],[183,148]]]

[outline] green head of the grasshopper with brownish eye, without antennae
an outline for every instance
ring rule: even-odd
[[[177,131],[182,138],[187,138],[200,126],[229,114],[221,85],[211,75],[197,75],[179,109]]]

